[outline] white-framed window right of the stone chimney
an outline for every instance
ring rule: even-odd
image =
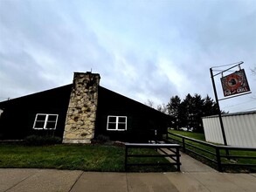
[[[107,116],[108,131],[125,131],[127,129],[126,116]]]

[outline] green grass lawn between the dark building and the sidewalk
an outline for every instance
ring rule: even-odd
[[[152,149],[135,149],[133,153],[156,154]],[[135,161],[161,161],[143,158]],[[124,171],[124,147],[107,145],[24,146],[0,144],[0,168],[58,168],[84,171]],[[132,167],[134,172],[176,171],[172,165],[162,167]]]

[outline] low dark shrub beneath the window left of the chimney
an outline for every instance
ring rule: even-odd
[[[56,136],[30,135],[24,138],[24,143],[30,146],[54,145],[61,143],[62,139]]]

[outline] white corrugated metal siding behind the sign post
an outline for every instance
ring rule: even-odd
[[[256,147],[256,112],[222,117],[228,145]],[[224,144],[218,117],[203,118],[206,141]]]

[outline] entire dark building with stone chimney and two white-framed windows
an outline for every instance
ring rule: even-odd
[[[0,102],[0,140],[54,134],[65,143],[147,142],[167,133],[171,117],[100,86],[100,75],[75,72],[73,84]]]

